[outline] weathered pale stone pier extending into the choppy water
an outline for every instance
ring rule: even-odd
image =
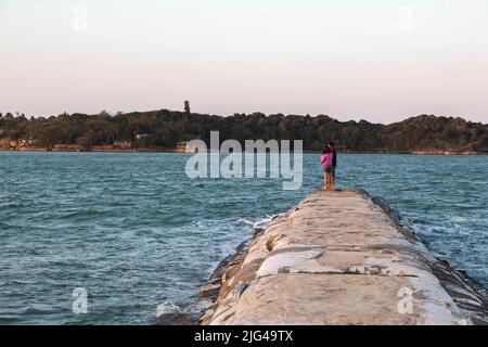
[[[487,292],[381,198],[316,191],[257,230],[200,291],[198,324],[486,324]]]

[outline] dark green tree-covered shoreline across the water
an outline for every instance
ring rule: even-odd
[[[0,113],[0,139],[35,139],[36,145],[48,149],[76,144],[89,150],[118,142],[130,143],[133,149],[171,149],[193,139],[209,144],[211,130],[220,132],[220,141],[235,139],[242,144],[258,139],[303,140],[306,151],[321,151],[325,142],[332,141],[344,152],[488,152],[488,125],[434,115],[382,125],[338,121],[325,115],[253,113],[221,117],[168,110],[30,118]]]

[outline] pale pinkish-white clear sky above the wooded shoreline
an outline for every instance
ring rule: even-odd
[[[488,0],[0,0],[0,112],[488,123]]]

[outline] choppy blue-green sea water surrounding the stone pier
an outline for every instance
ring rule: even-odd
[[[322,184],[200,179],[185,154],[0,153],[0,323],[156,324],[251,227]],[[341,155],[338,185],[386,197],[429,249],[488,285],[488,157]],[[72,311],[75,287],[88,313]],[[159,307],[159,308],[158,308]],[[164,314],[163,314],[164,316]]]

